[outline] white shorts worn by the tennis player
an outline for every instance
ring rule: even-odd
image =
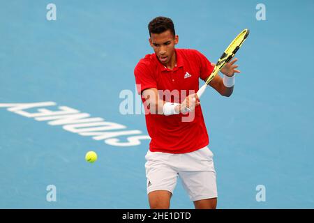
[[[213,156],[207,146],[181,154],[148,151],[145,156],[147,194],[155,190],[173,194],[179,176],[191,201],[217,197]]]

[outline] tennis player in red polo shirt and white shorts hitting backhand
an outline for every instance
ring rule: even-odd
[[[179,36],[170,18],[156,17],[148,29],[155,53],[140,59],[134,74],[151,137],[145,156],[149,206],[170,208],[179,176],[195,208],[216,208],[213,153],[196,94],[199,79],[209,77],[214,63],[195,49],[175,48]],[[226,63],[223,77],[216,75],[209,84],[220,95],[232,94],[234,73],[240,72],[236,61]]]

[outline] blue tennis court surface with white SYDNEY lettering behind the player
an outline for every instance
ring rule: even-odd
[[[119,107],[125,93],[140,99],[133,70],[153,53],[147,24],[159,15],[178,48],[214,63],[251,31],[233,95],[201,98],[218,208],[314,208],[311,0],[1,1],[0,208],[149,208],[144,114]],[[170,208],[194,208],[180,180]]]

